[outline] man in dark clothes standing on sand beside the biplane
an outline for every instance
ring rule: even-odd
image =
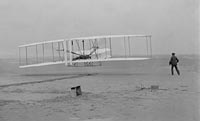
[[[177,67],[177,63],[178,62],[179,62],[179,60],[175,56],[175,53],[172,53],[171,59],[169,61],[169,65],[171,65],[171,73],[172,73],[172,75],[174,75],[174,67],[176,69],[177,74],[180,75],[180,72],[179,72],[178,67]]]

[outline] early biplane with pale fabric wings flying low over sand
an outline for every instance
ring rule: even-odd
[[[96,66],[107,61],[146,60],[152,56],[151,35],[79,37],[36,42],[18,48],[19,68],[55,64]]]

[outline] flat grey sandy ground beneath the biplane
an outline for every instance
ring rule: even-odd
[[[157,58],[13,72],[1,78],[0,121],[199,121],[199,64],[180,62],[181,76],[171,76],[168,60]],[[72,97],[77,85],[83,95]]]

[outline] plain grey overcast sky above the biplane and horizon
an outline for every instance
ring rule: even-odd
[[[151,34],[153,54],[197,54],[197,1],[0,0],[0,56],[17,57],[21,44],[110,34]]]

